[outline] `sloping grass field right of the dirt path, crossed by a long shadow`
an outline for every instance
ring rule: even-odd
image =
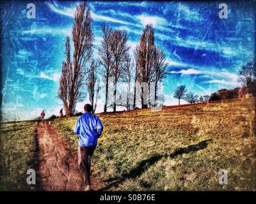
[[[104,131],[92,176],[102,190],[256,190],[254,98],[99,117]],[[76,119],[53,122],[74,151]],[[227,185],[218,183],[221,169]]]

